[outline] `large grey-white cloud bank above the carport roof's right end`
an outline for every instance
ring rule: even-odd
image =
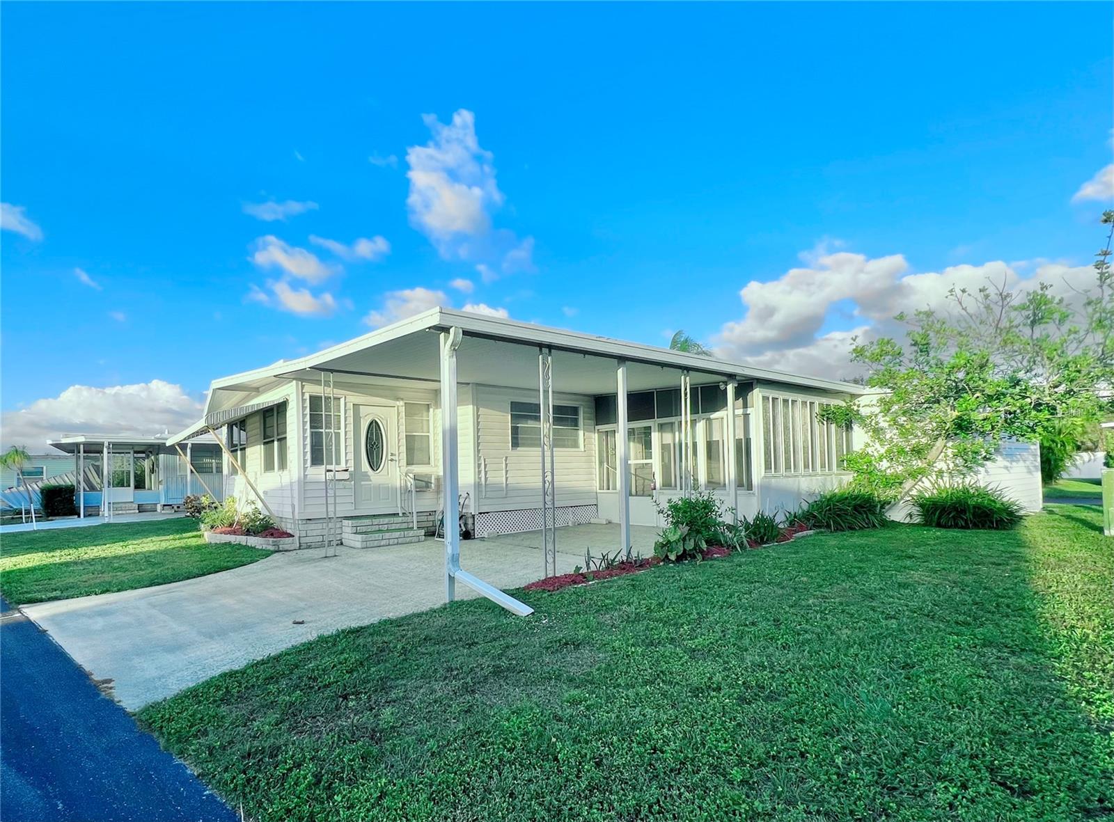
[[[717,353],[764,368],[852,376],[857,373],[848,354],[852,337],[866,342],[903,335],[905,330],[893,321],[896,314],[948,311],[951,288],[974,292],[993,283],[1025,292],[1043,281],[1068,303],[1077,303],[1079,291],[1094,274],[1089,266],[1048,262],[1037,265],[1028,277],[1004,262],[913,273],[900,254],[869,258],[850,252],[805,253],[802,260],[811,264],[743,286],[740,297],[745,313],[724,323],[713,341]],[[833,319],[853,327],[825,330]]]

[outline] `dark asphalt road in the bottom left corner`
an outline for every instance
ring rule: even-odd
[[[3,822],[233,822],[238,815],[0,599]]]

